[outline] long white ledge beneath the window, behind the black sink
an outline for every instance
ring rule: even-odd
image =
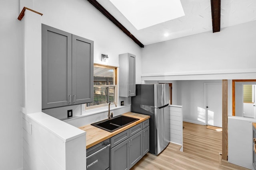
[[[117,107],[110,106],[110,109],[112,111],[112,110],[120,109],[120,108],[123,108],[123,107],[130,107],[130,106],[131,105],[117,106]],[[60,120],[69,121],[69,120],[73,120],[73,119],[78,119],[80,117],[86,117],[86,116],[90,116],[90,115],[94,115],[94,114],[98,114],[98,113],[102,113],[102,112],[107,112],[107,111],[108,111],[108,106],[100,107],[100,108],[96,108],[96,109],[90,109],[90,110],[87,110],[87,111],[82,111],[81,115],[76,115],[76,116],[73,116],[73,117],[68,117],[68,118],[64,118],[64,119],[60,119]]]

